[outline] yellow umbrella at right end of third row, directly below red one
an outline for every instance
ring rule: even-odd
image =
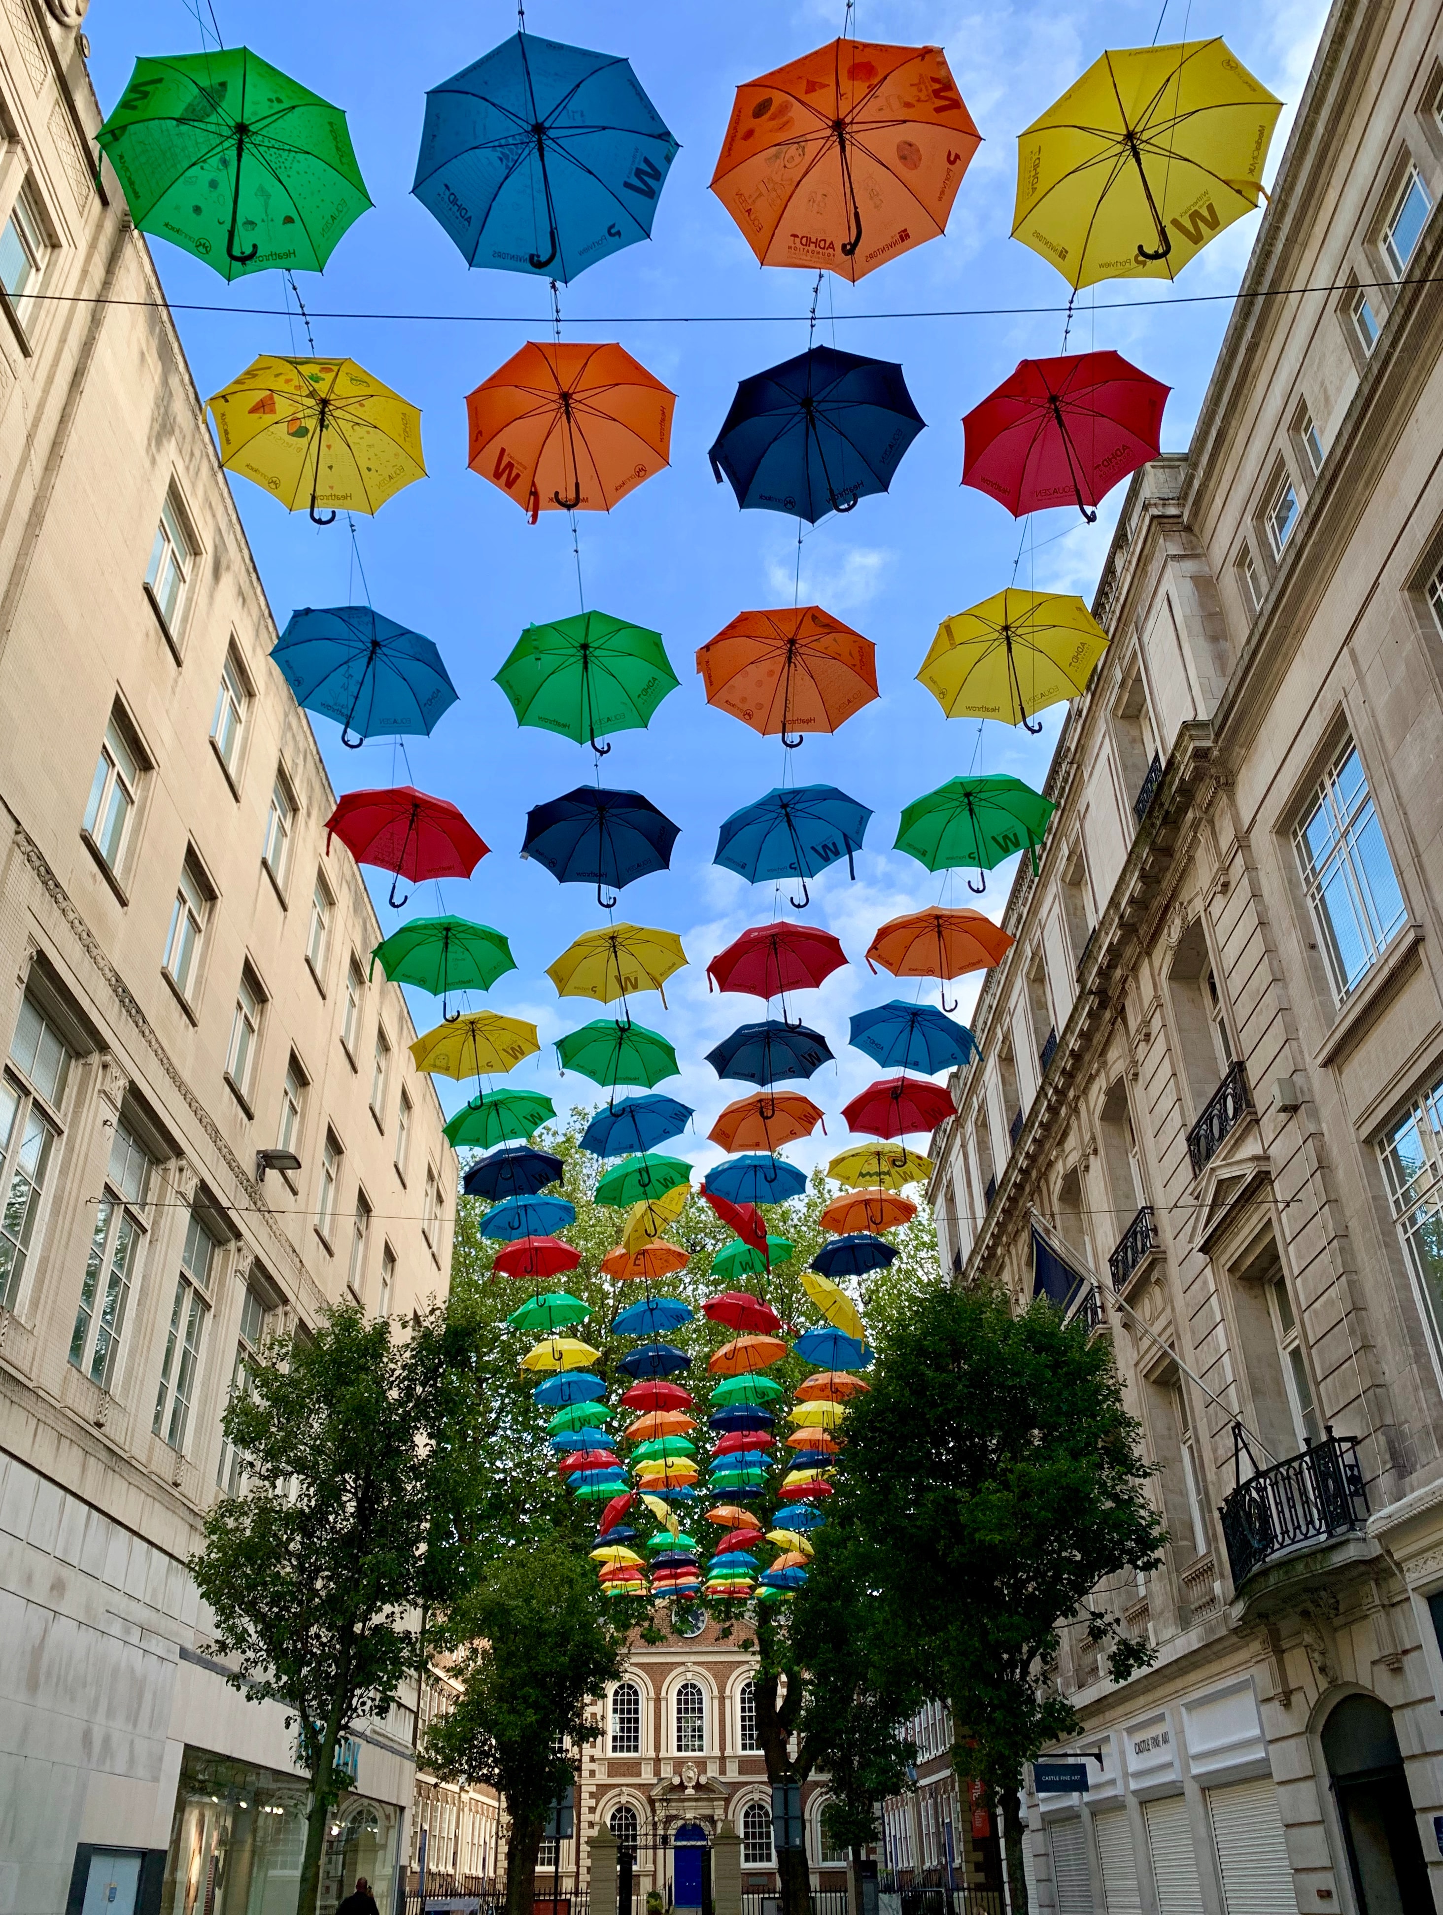
[[[1069,592],[1008,588],[943,619],[916,674],[949,718],[1000,718],[1041,732],[1029,712],[1087,691],[1108,634]]]

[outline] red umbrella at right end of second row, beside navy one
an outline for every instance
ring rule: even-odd
[[[1088,506],[1157,458],[1169,391],[1121,352],[1021,360],[962,419],[962,484],[987,492],[1014,519],[1075,500],[1092,521]]]

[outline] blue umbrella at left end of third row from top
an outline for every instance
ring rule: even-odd
[[[378,735],[425,737],[456,703],[431,640],[370,605],[293,611],[270,657],[295,703],[337,718],[341,743],[356,751]]]

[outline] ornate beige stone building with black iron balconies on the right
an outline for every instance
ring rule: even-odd
[[[1035,1212],[1100,1275],[1171,1532],[1100,1591],[1150,1670],[1065,1632],[1060,1915],[1443,1890],[1439,201],[1443,11],[1338,0],[937,1139],[952,1270],[1029,1296]]]

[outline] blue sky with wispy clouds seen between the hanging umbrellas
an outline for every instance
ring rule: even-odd
[[[801,603],[820,601],[878,645],[882,697],[836,737],[813,737],[795,753],[797,781],[836,783],[874,808],[857,881],[845,864],[813,883],[809,919],[843,942],[853,963],[820,992],[791,1000],[793,1015],[820,1028],[837,1065],[809,1090],[828,1111],[828,1138],[788,1155],[811,1162],[845,1141],[841,1103],[878,1072],[847,1049],[847,1015],[891,996],[887,977],[862,963],[876,927],[935,902],[945,887],[910,858],[889,850],[905,802],[968,770],[1014,772],[1042,783],[1060,710],[1039,739],[989,724],[949,722],[914,672],[941,619],[1008,584],[1019,529],[1000,506],[958,484],[962,414],[1023,356],[1062,343],[1065,285],[1010,236],[1016,134],[1106,46],[1146,44],[1161,0],[1108,4],[962,4],[962,0],[860,0],[857,33],[891,42],[935,42],[947,50],[964,100],[983,134],[945,237],[920,247],[851,287],[822,283],[818,341],[901,360],[928,421],[891,492],[862,500],[847,517],[824,519],[801,548]],[[207,0],[195,0],[209,29]],[[1284,101],[1272,146],[1276,167],[1292,107],[1307,79],[1324,0],[1169,0],[1161,40],[1225,34],[1232,50]],[[678,394],[671,469],[648,481],[615,513],[581,517],[586,601],[659,630],[680,689],[648,732],[615,737],[604,781],[644,791],[682,829],[671,871],[623,892],[617,917],[665,925],[682,935],[692,959],[667,992],[634,1003],[634,1015],[676,1046],[682,1076],[661,1088],[696,1105],[696,1138],[680,1139],[699,1162],[715,1159],[705,1130],[740,1084],[721,1084],[703,1051],[734,1025],[761,1015],[753,998],[707,996],[707,959],[740,931],[772,917],[772,887],[749,887],[711,864],[717,827],[732,810],[780,781],[782,745],[711,710],[694,670],[694,651],[747,607],[790,605],[797,561],[793,521],[736,509],[730,488],[713,483],[707,446],[736,381],[790,358],[807,345],[813,276],[759,270],[721,203],[707,192],[726,126],[732,90],[841,27],[839,0],[768,0],[744,10],[696,0],[533,0],[527,27],[556,40],[627,54],[680,142],[650,245],[629,247],[563,289],[567,337],[619,339]],[[496,925],[512,940],[519,971],[489,996],[494,1009],[533,1019],[542,1055],[514,1074],[517,1086],[548,1092],[558,1109],[592,1101],[594,1088],[560,1078],[550,1040],[596,1005],[558,1000],[544,967],[583,931],[600,923],[594,892],[560,887],[517,852],[529,806],[592,777],[590,751],[535,730],[519,730],[491,682],[521,628],[577,609],[571,532],[561,513],[529,527],[521,511],[466,469],[466,404],[483,377],[529,337],[548,337],[544,282],[517,274],[468,272],[450,239],[410,197],[425,88],[470,65],[515,31],[510,6],[397,8],[351,0],[343,10],[316,0],[215,0],[226,44],[245,44],[307,86],[343,105],[376,209],[337,247],[322,278],[301,276],[314,312],[316,347],[351,354],[404,393],[424,414],[429,479],[406,488],[372,519],[356,521],[360,559],[379,611],[429,634],[441,647],[460,701],[431,739],[408,741],[414,781],[468,814],[491,845],[470,883],[445,885],[445,908]],[[402,23],[401,31],[397,21]],[[86,21],[90,69],[102,105],[117,100],[138,54],[195,52],[201,27],[192,0],[103,0]],[[1249,216],[1215,241],[1180,278],[1177,297],[1230,293],[1257,232]],[[169,297],[217,306],[284,304],[284,282],[263,274],[224,282],[153,243]],[[1156,297],[1157,285],[1096,289],[1096,301]],[[937,308],[1058,308],[989,318],[901,318]],[[1228,318],[1228,301],[1167,303],[1131,312],[1092,312],[1079,301],[1073,347],[1115,347],[1173,387],[1163,448],[1188,442]],[[452,324],[324,314],[450,314]],[[891,318],[851,318],[891,314]],[[485,316],[485,320],[483,320]],[[659,324],[676,316],[730,316],[732,324]],[[755,324],[740,324],[742,316]],[[218,391],[257,352],[305,352],[297,322],[241,312],[180,312],[180,333],[203,394]],[[236,500],[280,624],[297,605],[362,597],[345,521],[326,530],[286,515],[243,479]],[[1027,529],[1018,582],[1090,596],[1117,506],[1119,486],[1094,527],[1075,511],[1037,515]],[[349,753],[339,732],[316,720],[339,791],[406,779],[389,745]],[[996,871],[981,900],[962,873],[952,902],[981,902],[1000,915],[1010,867]],[[385,904],[389,879],[372,883],[381,923],[437,908],[435,887],[412,910]],[[786,912],[786,902],[784,902]],[[791,915],[788,912],[788,915]],[[975,979],[962,980],[964,1005]],[[968,988],[972,986],[972,988]],[[935,994],[931,998],[935,1002]],[[479,1000],[477,1000],[479,1003]],[[414,1000],[420,1028],[439,1015]],[[966,1013],[964,1013],[966,1015]],[[464,1092],[441,1080],[448,1105]]]

